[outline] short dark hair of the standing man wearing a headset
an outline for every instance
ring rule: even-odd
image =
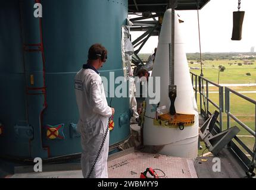
[[[88,59],[89,60],[102,59],[102,61],[104,60],[106,61],[107,54],[108,54],[107,49],[101,44],[96,43],[95,45],[90,46],[90,49],[88,52]]]

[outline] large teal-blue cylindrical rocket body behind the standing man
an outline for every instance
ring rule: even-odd
[[[55,157],[79,153],[80,137],[70,129],[79,119],[74,76],[88,49],[101,43],[108,61],[101,76],[123,76],[121,25],[127,0],[42,0],[43,18],[33,17],[35,1],[0,2],[0,153],[17,157]],[[40,28],[42,30],[40,30]],[[42,32],[42,36],[40,33]],[[43,46],[42,46],[43,44]],[[107,94],[108,92],[106,92]],[[108,98],[108,103],[111,99]],[[129,98],[113,98],[115,129],[110,144],[130,134]],[[17,126],[27,138],[15,135]],[[26,124],[26,125],[24,125]],[[49,140],[47,125],[64,124],[65,139]],[[16,127],[15,127],[16,126]],[[33,136],[33,138],[31,138]]]

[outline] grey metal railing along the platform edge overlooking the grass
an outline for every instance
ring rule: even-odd
[[[198,86],[197,86],[197,81],[196,81],[197,78],[198,78]],[[255,157],[256,157],[256,135],[255,135],[255,131],[256,131],[256,101],[247,96],[244,96],[241,93],[238,93],[235,90],[232,90],[228,87],[223,87],[221,85],[213,83],[212,81],[207,80],[204,77],[193,74],[192,72],[191,72],[191,79],[192,79],[192,85],[193,85],[193,89],[195,90],[196,96],[199,93],[200,113],[201,113],[201,116],[204,117],[204,119],[207,119],[211,115],[211,112],[209,110],[209,103],[211,103],[211,105],[216,107],[220,113],[219,121],[217,121],[217,124],[219,126],[220,132],[223,131],[223,113],[224,113],[224,100],[225,100],[225,112],[226,112],[226,116],[227,116],[227,129],[230,128],[230,118],[232,118],[235,122],[237,122],[239,125],[241,125],[242,128],[244,128],[251,135],[253,135],[254,140],[255,140],[255,145],[254,145],[254,150],[252,150],[252,151],[238,137],[234,138],[236,140],[236,142],[239,145],[241,145],[241,147],[246,151],[246,153],[248,153],[252,157],[251,160],[248,158],[248,156],[246,156],[246,153],[244,153],[241,150],[241,148],[239,148],[238,145],[236,145],[233,141],[230,142],[229,146],[230,146],[230,148],[232,148],[233,153],[237,157],[239,157],[239,159],[242,161],[245,170],[249,170],[250,167],[255,167],[254,162],[255,162]],[[218,105],[217,105],[217,103],[214,103],[213,100],[211,100],[209,98],[209,84],[211,84],[213,87],[218,88],[218,97],[219,97]],[[199,89],[199,90],[197,90],[197,89]],[[225,95],[224,95],[223,89],[225,89],[224,90]],[[230,93],[235,94],[235,96],[241,97],[242,99],[255,105],[255,131],[252,130],[251,128],[249,128],[249,126],[244,124],[240,119],[238,119],[235,115],[233,115],[230,112]]]

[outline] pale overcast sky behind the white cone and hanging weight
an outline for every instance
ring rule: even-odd
[[[256,0],[242,0],[241,11],[245,11],[242,40],[232,41],[233,11],[238,11],[238,0],[211,0],[199,10],[202,52],[250,52],[256,51]],[[185,21],[186,52],[199,52],[197,11],[176,11]],[[140,32],[132,32],[136,39]],[[157,47],[158,37],[150,37],[140,53],[152,53]]]

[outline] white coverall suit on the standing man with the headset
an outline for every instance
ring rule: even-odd
[[[105,97],[101,77],[92,66],[84,65],[75,78],[76,100],[80,119],[77,130],[81,134],[83,177],[87,178],[112,115]],[[107,158],[109,148],[109,132],[99,154],[99,159],[90,178],[108,178]]]

